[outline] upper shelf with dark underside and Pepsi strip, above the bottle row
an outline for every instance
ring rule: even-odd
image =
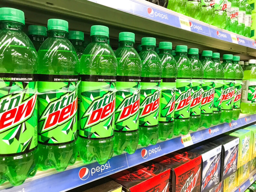
[[[69,21],[70,30],[90,33],[93,24],[110,29],[111,45],[117,46],[118,33],[135,32],[135,41],[154,36],[160,41],[172,41],[173,46],[185,44],[223,53],[256,56],[256,42],[250,38],[219,29],[145,0],[2,0],[2,6],[25,12],[27,24],[46,25],[49,18]],[[249,56],[249,57],[248,57]]]

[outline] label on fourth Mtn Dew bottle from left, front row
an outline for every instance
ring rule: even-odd
[[[131,132],[139,128],[140,77],[117,76],[115,131]]]

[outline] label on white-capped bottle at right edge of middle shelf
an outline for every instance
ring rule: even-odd
[[[243,80],[242,102],[256,103],[256,80]]]

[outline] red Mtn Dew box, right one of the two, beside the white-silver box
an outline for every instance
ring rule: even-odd
[[[201,155],[176,151],[154,161],[171,168],[170,192],[200,192]]]

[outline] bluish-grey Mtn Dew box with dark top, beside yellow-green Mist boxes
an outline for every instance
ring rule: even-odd
[[[213,143],[222,145],[221,150],[221,174],[220,180],[237,171],[239,138],[230,135],[221,135],[218,139],[213,138]]]

